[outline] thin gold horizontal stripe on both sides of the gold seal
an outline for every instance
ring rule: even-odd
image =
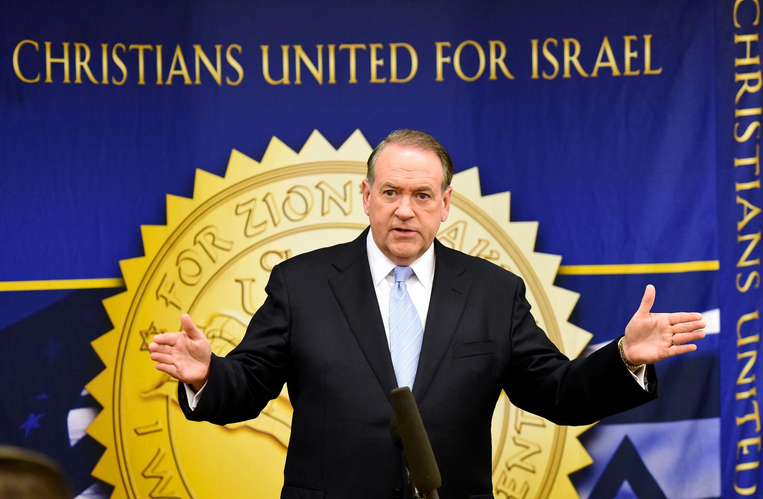
[[[674,264],[607,264],[607,265],[560,265],[559,275],[590,276],[617,275],[623,273],[677,273],[718,270],[717,260],[682,261]],[[102,279],[15,280],[0,282],[0,291],[41,291],[45,289],[97,289],[121,288],[124,280],[119,277]]]

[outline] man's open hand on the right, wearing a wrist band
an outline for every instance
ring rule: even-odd
[[[705,337],[706,326],[699,312],[673,312],[652,314],[655,303],[655,286],[649,284],[644,291],[639,310],[625,328],[623,353],[629,363],[636,366],[652,364],[665,357],[681,355],[697,350],[697,345],[687,344]]]

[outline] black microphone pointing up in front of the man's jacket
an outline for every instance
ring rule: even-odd
[[[403,443],[411,484],[421,497],[434,499],[437,497],[437,489],[442,485],[442,478],[414,395],[407,386],[394,389],[390,394],[397,423],[391,423],[392,438],[394,440],[397,433]]]

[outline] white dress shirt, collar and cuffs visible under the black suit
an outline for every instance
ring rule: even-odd
[[[365,251],[369,257],[369,267],[371,268],[371,280],[374,283],[374,289],[376,292],[376,299],[379,302],[379,312],[381,312],[381,321],[384,323],[384,331],[387,334],[387,346],[389,347],[389,293],[394,284],[394,267],[395,264],[376,245],[371,231],[365,238]],[[408,278],[405,283],[408,289],[408,295],[410,300],[414,302],[416,311],[419,312],[421,318],[421,327],[427,328],[427,312],[429,312],[429,302],[432,296],[432,283],[434,282],[434,245],[430,245],[427,251],[424,251],[420,257],[417,258],[414,263],[410,264],[410,268],[414,270],[414,273]],[[424,331],[427,334],[427,331]],[[627,369],[623,365],[623,369]],[[633,378],[639,382],[642,388],[644,386],[644,373],[646,369],[644,367],[638,369],[636,373],[631,373]],[[194,393],[190,385],[185,385],[185,395],[188,398],[188,407],[192,410],[198,404],[199,398],[201,398],[201,392],[204,392],[204,387]]]

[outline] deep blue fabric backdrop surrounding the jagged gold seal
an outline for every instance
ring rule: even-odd
[[[111,328],[101,299],[121,289],[20,290],[20,282],[121,277],[118,261],[143,253],[140,225],[165,222],[165,195],[190,196],[195,168],[224,174],[231,149],[261,158],[277,136],[298,150],[315,129],[334,146],[356,129],[375,144],[408,127],[443,142],[456,171],[478,165],[482,194],[510,190],[513,220],[539,222],[536,251],[562,255],[556,284],[581,293],[570,320],[594,335],[589,348],[621,333],[647,283],[657,288],[655,310],[711,319],[697,353],[658,366],[658,401],[584,433],[594,464],[571,476],[578,493],[760,494],[760,470],[749,464],[761,452],[760,396],[740,373],[760,372],[752,357],[760,320],[745,314],[760,307],[761,196],[757,163],[739,160],[759,153],[759,17],[753,0],[3,3],[0,442],[56,457],[77,493],[108,494],[90,476],[101,446],[78,438],[67,420],[72,410],[98,411],[83,392],[102,369],[89,343]],[[548,39],[551,57],[542,50]],[[586,76],[570,63],[565,77],[565,45],[575,50],[565,39],[580,47]],[[437,81],[436,43],[449,42],[443,55],[454,58],[464,40],[485,51],[484,72],[465,81],[451,60]],[[507,48],[513,79],[500,66],[491,79],[491,40]],[[47,70],[47,42],[53,58],[68,51],[69,83],[63,63]],[[76,50],[85,51],[75,43],[90,50],[98,83],[84,69],[75,83]],[[302,66],[295,84],[294,45],[315,60],[317,44],[327,57],[329,44],[343,43],[366,46],[356,83],[348,51],[337,50],[335,83],[325,67],[319,84]],[[387,82],[370,82],[371,43],[382,44],[387,62],[377,76]],[[389,43],[416,50],[409,82],[389,82]],[[152,46],[143,85],[137,49],[125,50],[137,44]],[[195,79],[194,44],[208,56],[222,46],[221,85],[204,66],[201,85],[185,85],[182,75],[168,85],[175,46]],[[262,45],[275,79],[280,46],[291,46],[289,85],[266,81]],[[114,50],[127,73],[122,85]],[[475,44],[460,55],[462,73],[477,74]],[[410,57],[398,56],[402,78]],[[637,75],[626,74],[626,61]],[[686,262],[694,264],[653,265]],[[602,264],[614,270],[588,267]],[[739,446],[742,439],[752,440]]]

